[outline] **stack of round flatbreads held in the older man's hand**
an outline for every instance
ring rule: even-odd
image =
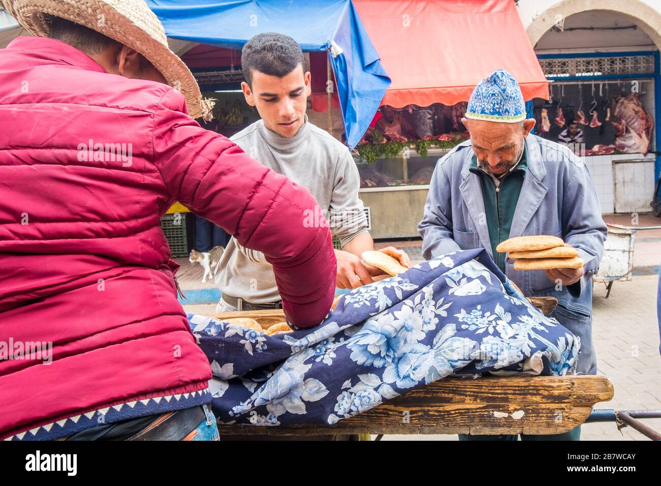
[[[583,260],[578,251],[564,246],[556,236],[518,236],[506,239],[496,247],[498,253],[509,253],[515,270],[551,270],[552,268],[580,268]]]

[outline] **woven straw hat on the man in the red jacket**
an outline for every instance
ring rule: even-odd
[[[184,62],[170,50],[163,24],[144,0],[0,0],[19,24],[34,36],[47,37],[44,14],[89,27],[142,54],[169,85],[184,95],[188,114],[211,119],[211,100],[202,100],[200,87]]]

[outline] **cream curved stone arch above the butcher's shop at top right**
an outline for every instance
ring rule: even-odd
[[[535,46],[557,19],[566,19],[570,15],[590,10],[613,11],[629,17],[661,50],[661,13],[641,0],[563,0],[537,15],[525,32],[530,43]]]

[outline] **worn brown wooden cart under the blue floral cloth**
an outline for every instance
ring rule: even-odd
[[[554,298],[531,298],[550,314]],[[281,322],[282,310],[240,311],[212,317]],[[218,425],[222,436],[329,434],[561,434],[586,421],[592,405],[613,398],[604,376],[445,378],[388,400],[335,425]],[[228,437],[229,438],[229,437]],[[266,438],[266,437],[264,437]]]

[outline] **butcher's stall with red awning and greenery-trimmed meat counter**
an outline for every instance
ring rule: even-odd
[[[475,85],[506,69],[531,117],[533,99],[548,99],[549,83],[514,2],[354,3],[391,78],[354,150],[360,198],[374,238],[419,237],[436,162],[468,139],[461,117]],[[411,28],[401,31],[403,21]],[[494,29],[499,42],[490,35]]]

